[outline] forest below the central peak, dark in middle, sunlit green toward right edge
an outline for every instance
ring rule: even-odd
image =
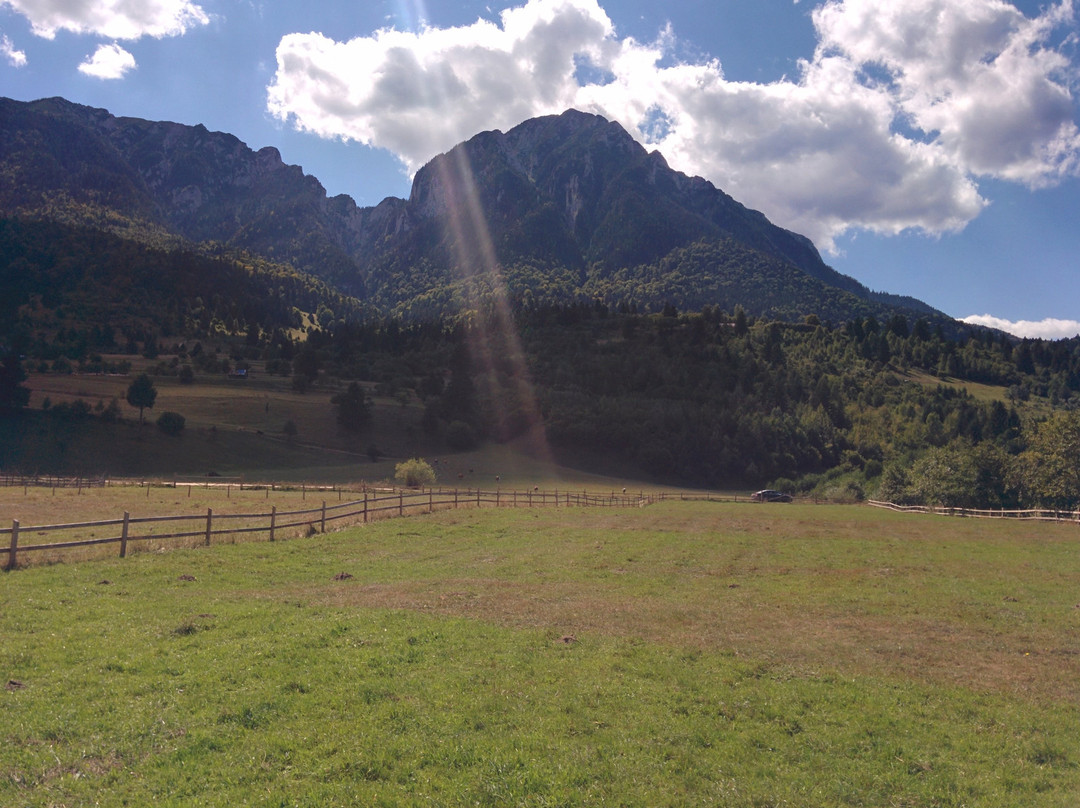
[[[1077,339],[590,301],[352,323],[296,351],[316,375],[417,395],[422,428],[450,448],[542,425],[556,449],[684,484],[983,507],[1080,497],[1058,473],[1080,418]]]

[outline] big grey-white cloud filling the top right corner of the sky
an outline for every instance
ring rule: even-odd
[[[900,115],[973,174],[1043,185],[1075,173],[1068,59],[1048,46],[1072,0],[1028,19],[1002,0],[831,0],[819,54],[882,68]]]

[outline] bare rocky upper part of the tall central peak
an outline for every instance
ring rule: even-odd
[[[445,242],[461,238],[455,216],[469,205],[482,211],[504,262],[551,258],[555,244],[559,259],[610,272],[654,262],[697,241],[731,239],[824,283],[867,294],[826,266],[805,237],[772,225],[712,183],[673,171],[618,123],[577,110],[485,132],[436,157],[417,172],[404,212],[416,226],[437,223]],[[415,233],[403,228],[400,237]]]

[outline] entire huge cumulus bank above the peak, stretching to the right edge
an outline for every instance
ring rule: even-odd
[[[675,32],[619,37],[597,0],[528,0],[497,23],[278,46],[270,111],[389,149],[409,172],[486,129],[566,108],[619,121],[674,167],[832,248],[852,229],[942,233],[983,177],[1078,172],[1072,0],[1024,16],[1003,0],[828,0],[794,79],[729,81],[674,58]]]

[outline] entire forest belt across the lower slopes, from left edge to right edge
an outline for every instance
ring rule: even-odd
[[[948,336],[903,314],[791,323],[738,307],[643,313],[494,294],[455,318],[375,319],[265,261],[0,224],[2,282],[18,291],[0,304],[9,413],[24,367],[102,369],[103,355],[140,353],[162,355],[158,373],[199,374],[262,360],[299,389],[334,377],[407,390],[424,403],[422,428],[451,448],[542,425],[556,449],[656,481],[946,506],[1080,501],[1077,339]],[[99,266],[70,267],[75,252]],[[129,285],[106,305],[118,264]]]

